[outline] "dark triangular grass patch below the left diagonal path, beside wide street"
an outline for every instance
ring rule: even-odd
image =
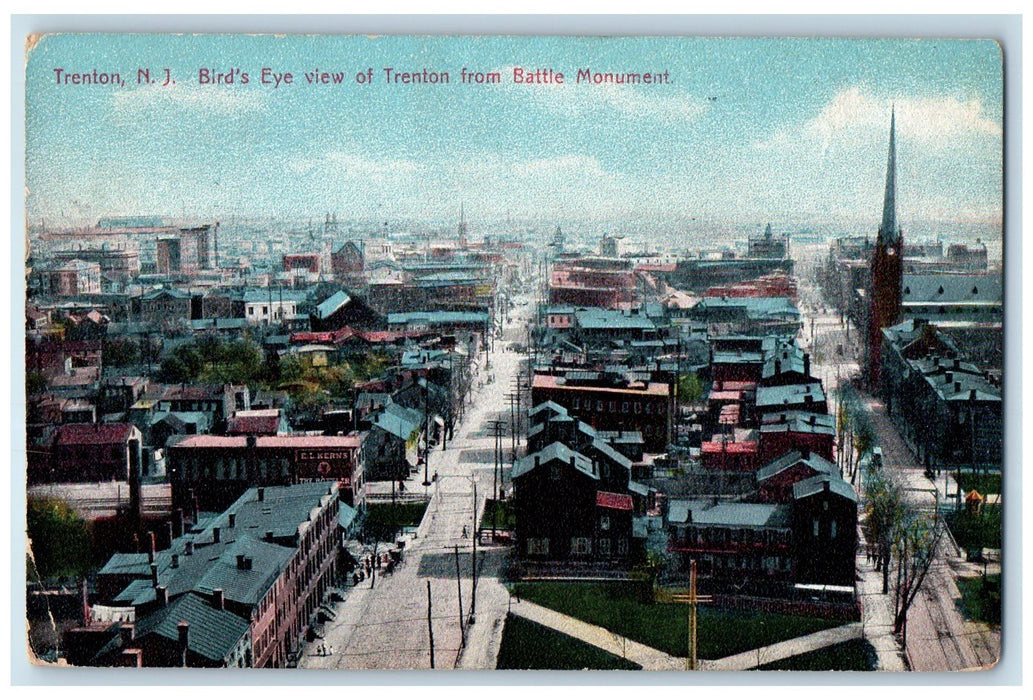
[[[497,669],[638,671],[641,666],[538,623],[506,616]]]

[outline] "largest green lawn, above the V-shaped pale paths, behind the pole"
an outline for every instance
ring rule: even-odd
[[[686,605],[644,602],[627,584],[516,583],[514,593],[671,656],[688,656]],[[700,659],[721,659],[840,625],[841,622],[833,619],[719,610],[700,605],[697,654]]]

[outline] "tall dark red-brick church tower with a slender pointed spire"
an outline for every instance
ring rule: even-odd
[[[894,325],[901,314],[901,280],[904,274],[904,236],[897,223],[897,116],[889,118],[889,159],[886,192],[882,200],[882,225],[872,254],[868,287],[868,384],[878,390],[882,380],[882,328]]]

